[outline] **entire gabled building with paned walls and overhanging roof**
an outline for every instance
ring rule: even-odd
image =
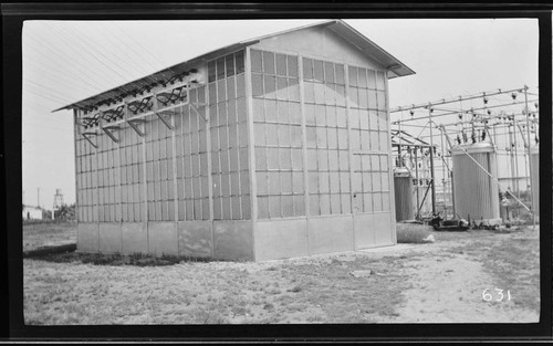
[[[410,74],[333,20],[60,108],[77,251],[263,261],[396,243],[388,80]]]

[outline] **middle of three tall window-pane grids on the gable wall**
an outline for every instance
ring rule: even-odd
[[[351,213],[344,65],[303,57],[312,216]]]

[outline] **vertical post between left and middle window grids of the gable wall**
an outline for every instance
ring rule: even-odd
[[[344,66],[345,69],[345,66]],[[309,222],[310,222],[310,193],[309,193],[309,177],[307,177],[307,128],[305,120],[305,88],[303,81],[303,57],[298,55],[298,76],[299,76],[299,86],[300,86],[300,112],[302,113],[302,165],[303,165],[303,201],[304,201],[304,210],[305,210],[305,239],[307,244],[307,255],[311,254],[310,251],[310,237],[309,237]],[[347,97],[346,97],[347,98]],[[352,206],[353,207],[353,206]]]

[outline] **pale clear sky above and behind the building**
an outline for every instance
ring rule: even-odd
[[[221,46],[320,21],[24,22],[23,203],[35,206],[38,189],[46,208],[55,189],[75,201],[72,112],[52,111]],[[345,21],[416,72],[390,80],[392,109],[524,85],[538,93],[538,20]]]

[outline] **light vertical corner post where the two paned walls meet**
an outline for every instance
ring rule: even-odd
[[[255,151],[253,129],[253,96],[251,86],[251,50],[246,48],[244,52],[244,87],[246,87],[246,109],[248,119],[248,153],[250,155],[250,208],[251,208],[251,239],[253,244],[253,261],[257,260],[255,228],[258,223],[258,182],[255,177]]]

